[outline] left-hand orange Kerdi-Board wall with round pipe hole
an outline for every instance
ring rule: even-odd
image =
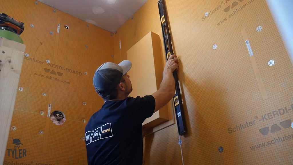
[[[4,164],[87,164],[84,128],[103,105],[93,75],[99,65],[114,62],[113,36],[39,1],[0,4],[1,13],[24,22],[21,38],[29,55],[23,59],[19,82],[23,91],[18,90],[11,123],[16,130],[9,134]],[[47,117],[49,104],[51,112],[64,113],[64,124],[55,125]],[[13,144],[13,139],[22,144]]]

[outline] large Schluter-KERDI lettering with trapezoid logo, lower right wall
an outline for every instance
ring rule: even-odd
[[[241,130],[246,129],[248,127],[252,127],[257,123],[272,120],[272,119],[280,117],[282,115],[292,113],[293,112],[293,104],[290,107],[291,108],[287,108],[287,107],[280,108],[278,110],[274,110],[272,112],[269,112],[269,113],[266,113],[264,115],[261,115],[261,119],[259,119],[258,116],[255,116],[254,117],[255,120],[247,121],[245,123],[236,124],[235,127],[228,128],[228,133],[231,134],[231,133],[234,133],[234,132],[237,132],[237,131],[241,131]],[[284,129],[289,128],[290,124],[291,124],[291,120],[286,120],[286,121],[280,122],[280,125]],[[259,132],[262,135],[267,135],[269,133],[269,129],[270,129],[269,127],[265,127],[265,128],[260,129]],[[270,133],[275,133],[275,132],[278,132],[280,130],[282,130],[281,127],[279,125],[277,125],[277,124],[274,124],[274,125],[271,126]]]

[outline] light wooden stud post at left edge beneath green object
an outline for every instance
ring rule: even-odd
[[[3,164],[25,45],[0,37],[0,164]]]

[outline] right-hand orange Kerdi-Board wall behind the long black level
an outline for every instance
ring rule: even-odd
[[[114,35],[115,62],[149,31],[161,35],[157,2]],[[176,124],[145,137],[144,164],[293,164],[293,68],[265,0],[166,0],[166,9],[188,134],[181,148]]]

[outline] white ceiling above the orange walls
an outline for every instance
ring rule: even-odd
[[[115,33],[147,0],[38,0]]]

